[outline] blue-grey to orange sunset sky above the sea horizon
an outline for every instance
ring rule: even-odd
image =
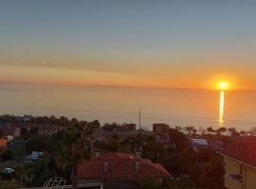
[[[0,81],[256,90],[256,2],[6,0]]]

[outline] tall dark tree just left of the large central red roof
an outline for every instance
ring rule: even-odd
[[[79,164],[83,160],[90,160],[91,158],[90,137],[93,131],[93,129],[79,124],[53,135],[48,142],[46,150],[54,163],[55,170],[59,176],[66,180],[71,178],[73,188],[77,188]]]

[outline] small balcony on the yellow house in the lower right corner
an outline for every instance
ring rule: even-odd
[[[241,175],[225,176],[225,186],[229,189],[243,189],[243,179]]]

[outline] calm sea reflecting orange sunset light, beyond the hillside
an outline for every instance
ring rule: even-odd
[[[171,126],[220,127],[220,92],[149,90],[115,87],[37,86],[0,84],[0,114],[65,115],[82,120],[153,123]],[[256,126],[256,93],[225,92],[223,126]]]

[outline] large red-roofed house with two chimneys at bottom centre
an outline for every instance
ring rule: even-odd
[[[105,188],[137,188],[139,180],[155,178],[160,183],[171,174],[159,163],[141,159],[139,154],[97,153],[91,162],[82,162],[77,170],[79,183],[104,182]]]

